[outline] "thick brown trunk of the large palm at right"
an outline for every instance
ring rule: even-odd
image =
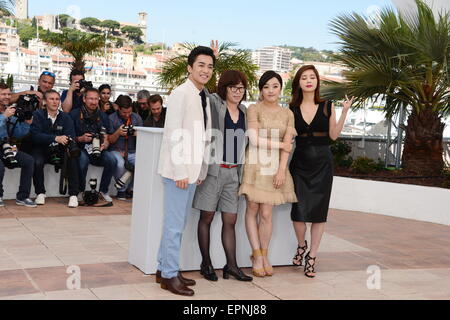
[[[420,176],[441,175],[444,168],[445,124],[431,108],[424,107],[417,113],[413,109],[406,127],[403,168]]]

